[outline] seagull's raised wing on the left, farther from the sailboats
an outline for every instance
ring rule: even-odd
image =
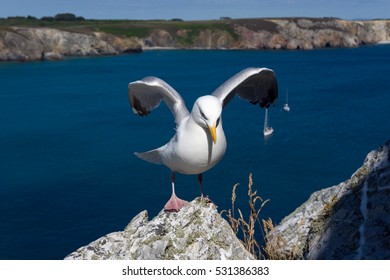
[[[130,83],[128,97],[133,112],[140,116],[148,115],[160,105],[161,100],[164,100],[171,110],[176,124],[189,114],[180,94],[156,77],[146,77]]]

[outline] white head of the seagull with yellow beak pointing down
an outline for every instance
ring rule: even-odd
[[[199,97],[192,108],[192,118],[203,128],[208,129],[214,144],[217,142],[217,127],[221,120],[222,103],[212,95]]]

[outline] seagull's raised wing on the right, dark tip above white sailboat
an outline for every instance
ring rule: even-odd
[[[252,104],[268,108],[278,98],[278,83],[274,71],[268,68],[246,68],[213,92],[223,107],[235,94]]]

